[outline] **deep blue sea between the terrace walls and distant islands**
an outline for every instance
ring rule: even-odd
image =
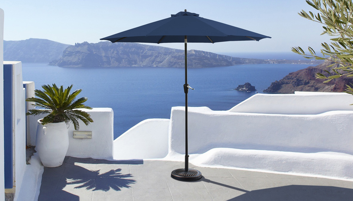
[[[229,110],[234,105],[280,80],[289,72],[304,69],[303,64],[258,64],[188,69],[189,106]],[[173,106],[185,105],[183,68],[63,68],[40,63],[23,63],[23,80],[34,81],[35,88],[57,84],[88,97],[86,105],[114,110],[114,139],[148,118],[170,118]],[[257,92],[234,90],[245,82]]]

